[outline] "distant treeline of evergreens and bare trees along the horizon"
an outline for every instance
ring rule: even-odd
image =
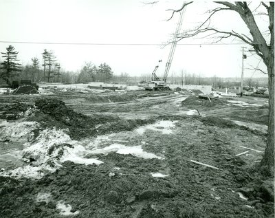
[[[151,80],[151,74],[129,76],[128,73],[113,74],[107,63],[98,66],[85,62],[83,67],[76,71],[65,71],[57,61],[54,52],[43,50],[41,61],[31,58],[30,63],[21,65],[17,59],[17,52],[12,45],[1,52],[0,84],[12,84],[13,80],[31,80],[32,83],[91,83],[103,82],[113,84],[138,85]],[[181,75],[181,76],[175,76]],[[241,78],[221,78],[219,76],[202,77],[200,74],[180,74],[172,72],[166,82],[176,85],[212,85],[214,88],[236,89],[241,85]],[[267,87],[267,78],[244,78],[243,86]]]

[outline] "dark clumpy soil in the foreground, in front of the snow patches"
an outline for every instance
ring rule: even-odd
[[[268,185],[262,182],[265,177],[236,157],[221,133],[246,131],[226,124],[203,127],[197,118],[181,121],[177,135],[148,131],[142,138],[146,151],[165,151],[164,160],[98,154],[94,156],[104,162],[100,166],[65,162],[63,168],[39,180],[0,177],[1,217],[60,217],[56,204],[61,199],[72,205],[72,212],[80,210],[77,217],[272,217],[274,203]],[[200,137],[197,143],[199,134],[206,134],[207,140]],[[190,159],[219,166],[219,170]],[[114,166],[120,170],[114,171]],[[156,171],[165,171],[169,177],[152,177],[150,173]],[[40,192],[52,193],[50,202],[36,202]]]

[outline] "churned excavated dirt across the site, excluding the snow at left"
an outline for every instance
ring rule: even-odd
[[[225,98],[209,105],[193,97],[181,103],[177,100],[184,96],[173,94],[139,100],[131,96],[113,104],[96,102],[94,95],[75,96],[75,100],[24,97],[32,99],[23,107],[10,104],[8,111],[17,122],[39,122],[36,137],[46,128],[68,129],[69,136],[87,148],[96,143],[93,148],[100,151],[112,143],[126,148],[141,144],[143,151],[159,158],[92,149],[85,158],[102,164],[66,161],[40,179],[0,176],[0,217],[274,217],[274,180],[259,168],[263,153],[240,147],[264,151],[266,135],[228,120],[234,110],[240,114],[236,120],[251,122],[248,116],[261,115],[257,122],[263,124],[265,105],[245,110],[226,105]],[[85,99],[81,105],[80,97]],[[183,115],[188,109],[198,109],[201,116]],[[132,118],[125,115],[127,111]],[[7,113],[1,114],[8,119]],[[160,121],[170,122],[169,131],[156,124]],[[55,149],[60,147],[52,146],[47,153]],[[249,152],[236,156],[244,151]]]

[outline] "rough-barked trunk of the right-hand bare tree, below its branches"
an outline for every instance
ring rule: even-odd
[[[267,129],[267,147],[261,166],[267,166],[274,175],[274,56],[267,66],[269,91],[269,119]]]

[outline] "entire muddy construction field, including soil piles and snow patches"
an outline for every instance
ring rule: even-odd
[[[0,217],[274,217],[267,98],[49,93],[0,95]]]

